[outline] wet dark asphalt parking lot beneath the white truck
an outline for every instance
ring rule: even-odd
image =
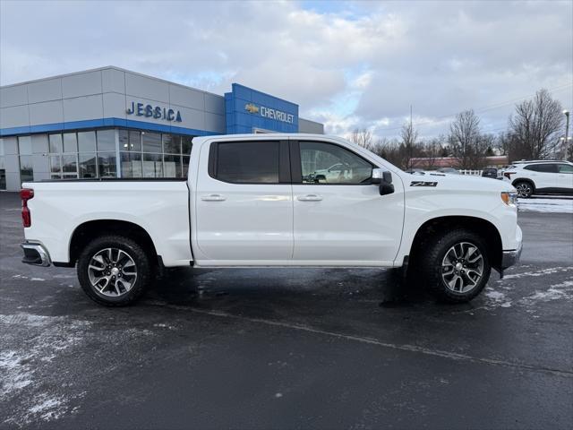
[[[21,264],[0,194],[0,428],[570,428],[573,214],[467,305],[382,270],[178,270],[133,307]],[[573,201],[572,201],[573,204]]]

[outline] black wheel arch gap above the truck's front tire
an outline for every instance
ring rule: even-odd
[[[432,237],[453,228],[465,228],[482,237],[487,245],[488,257],[492,267],[494,269],[500,268],[503,246],[499,230],[487,219],[465,215],[442,216],[425,221],[415,233],[408,262],[413,262],[421,257],[423,246],[432,240]]]

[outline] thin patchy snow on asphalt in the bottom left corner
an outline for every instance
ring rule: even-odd
[[[0,314],[0,427],[41,427],[80,410],[90,378],[112,372],[121,363],[86,365],[98,363],[97,349],[85,356],[87,345],[101,341],[91,325],[70,316]],[[124,323],[120,327],[107,333],[106,342],[123,351],[156,334],[149,329],[125,330]],[[176,330],[167,323],[158,327]],[[82,366],[89,366],[90,376]]]

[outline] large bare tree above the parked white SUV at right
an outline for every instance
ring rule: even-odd
[[[560,102],[544,89],[538,90],[534,99],[516,105],[515,114],[509,116],[509,130],[523,158],[545,159],[559,149],[561,110]]]

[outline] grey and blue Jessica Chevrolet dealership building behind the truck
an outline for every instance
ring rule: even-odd
[[[0,190],[22,182],[183,177],[192,137],[323,133],[298,105],[238,83],[224,96],[118,67],[0,87]]]

